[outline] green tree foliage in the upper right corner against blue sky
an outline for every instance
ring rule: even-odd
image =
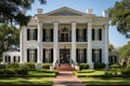
[[[114,8],[108,10],[110,25],[117,26],[117,30],[130,38],[130,0],[116,2]]]

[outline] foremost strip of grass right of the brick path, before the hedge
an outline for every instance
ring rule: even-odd
[[[130,77],[79,77],[87,85],[130,85]]]

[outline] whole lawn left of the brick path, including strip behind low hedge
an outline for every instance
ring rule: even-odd
[[[0,85],[3,84],[43,84],[43,85],[52,85],[53,78],[55,77],[56,72],[54,71],[29,71],[27,75],[21,76],[1,76]]]

